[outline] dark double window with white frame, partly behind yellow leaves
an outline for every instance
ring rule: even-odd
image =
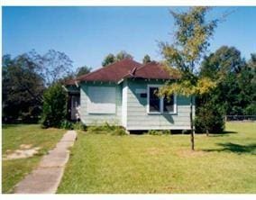
[[[148,88],[148,112],[149,113],[176,113],[176,96],[170,95],[159,97],[157,95],[160,86],[149,86]]]

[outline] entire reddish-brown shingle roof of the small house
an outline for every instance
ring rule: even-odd
[[[76,81],[103,81],[118,82],[123,78],[151,78],[151,79],[176,79],[170,76],[169,71],[159,62],[152,61],[142,65],[133,59],[122,59],[105,68],[99,68],[87,75],[78,77],[76,80],[69,80],[67,85],[75,85]]]

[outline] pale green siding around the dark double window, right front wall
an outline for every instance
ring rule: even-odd
[[[148,85],[161,84],[161,81],[127,81],[127,130],[190,129],[189,98],[185,96],[177,96],[177,114],[147,113],[147,97],[136,94],[136,89],[147,91]]]

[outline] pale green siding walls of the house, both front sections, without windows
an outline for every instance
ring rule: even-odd
[[[114,83],[82,83],[80,85],[80,116],[86,125],[100,125],[105,122],[115,125],[122,123],[122,92],[127,86],[127,130],[163,130],[163,129],[190,129],[189,98],[177,96],[177,114],[148,114],[147,98],[135,94],[136,89],[147,90],[148,85],[161,85],[162,81],[124,80],[120,85]],[[113,86],[115,87],[115,114],[88,114],[87,89],[88,86]],[[195,111],[195,109],[194,109]]]

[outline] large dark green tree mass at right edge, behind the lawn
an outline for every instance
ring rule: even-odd
[[[224,114],[256,114],[255,70],[251,60],[246,63],[241,52],[234,47],[223,46],[206,57],[202,63],[200,77],[214,78],[213,91],[206,95],[211,105],[218,105]],[[254,110],[254,111],[253,111]]]

